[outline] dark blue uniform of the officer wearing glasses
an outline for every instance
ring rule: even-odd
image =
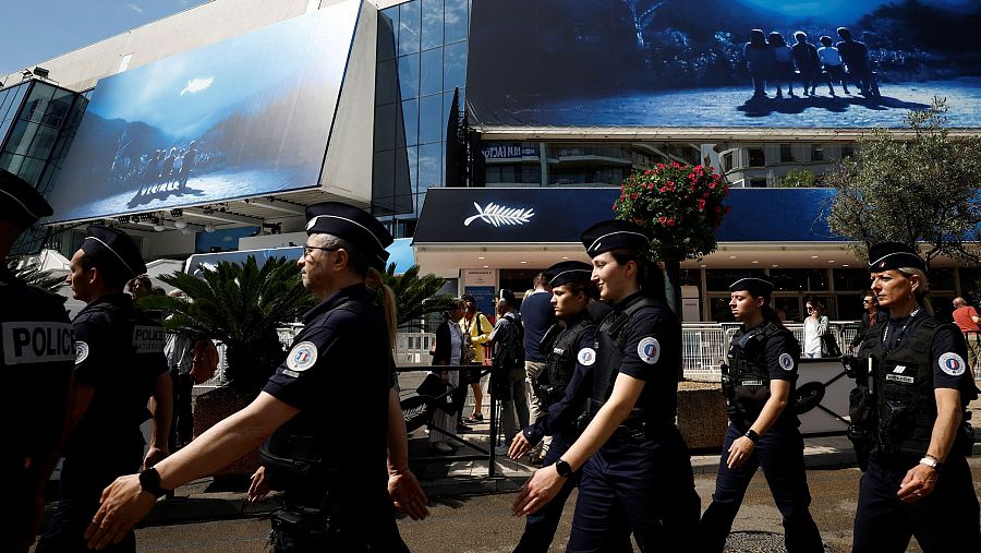
[[[408,551],[388,495],[395,364],[382,308],[359,284],[324,300],[303,322],[287,361],[265,387],[300,409],[263,447],[269,483],[284,491],[283,508],[272,516],[274,546]],[[299,460],[307,470],[291,472],[277,458]]]

